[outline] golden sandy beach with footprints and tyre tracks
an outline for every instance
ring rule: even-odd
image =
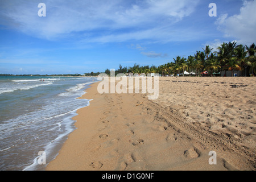
[[[46,170],[255,170],[255,77],[160,77],[156,100],[98,83]]]

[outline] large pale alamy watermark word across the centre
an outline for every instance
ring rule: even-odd
[[[115,76],[115,70],[110,71],[110,77],[105,73],[98,75],[98,93],[143,93],[148,95],[149,100],[155,100],[159,96],[159,75],[158,73],[142,73],[138,75],[125,75],[123,73]],[[117,82],[116,82],[117,81]]]

